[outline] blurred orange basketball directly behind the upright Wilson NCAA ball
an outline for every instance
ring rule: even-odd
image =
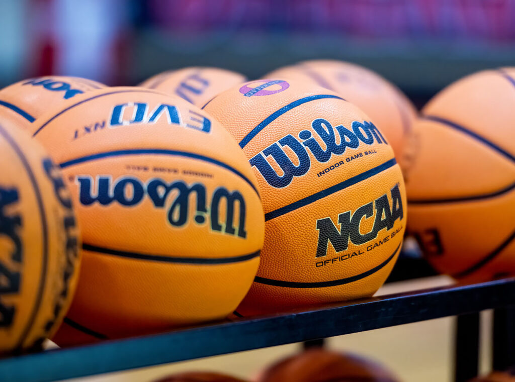
[[[338,93],[367,113],[381,129],[401,167],[409,165],[404,150],[411,144],[411,125],[417,111],[395,85],[379,74],[345,61],[312,60],[279,68],[264,78],[299,79]]]

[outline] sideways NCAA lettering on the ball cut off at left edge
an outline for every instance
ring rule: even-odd
[[[22,218],[19,214],[8,215],[18,203],[19,196],[16,188],[0,187],[0,241],[7,239],[7,246],[10,250],[9,259],[6,262],[0,260],[0,328],[12,325],[16,307],[6,305],[2,296],[20,292],[20,265],[23,261],[23,246],[19,230],[22,227]],[[10,265],[12,264],[12,265]]]

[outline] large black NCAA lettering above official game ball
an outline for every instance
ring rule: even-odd
[[[385,228],[388,231],[391,230],[397,219],[403,219],[404,213],[398,184],[390,190],[390,194],[392,200],[391,209],[388,196],[384,194],[375,199],[375,201],[362,205],[353,214],[351,211],[339,214],[339,230],[330,217],[318,219],[316,223],[318,230],[316,257],[327,255],[329,243],[331,243],[336,252],[341,252],[347,250],[349,240],[358,246],[375,239],[377,234]],[[372,230],[362,234],[360,230],[362,221],[372,217],[374,217]]]

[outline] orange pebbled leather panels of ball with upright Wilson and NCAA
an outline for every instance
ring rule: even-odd
[[[273,80],[251,81],[244,86],[260,86]],[[208,104],[206,110],[218,118],[235,137],[236,141],[240,142],[268,116],[291,102],[313,95],[334,95],[327,89],[299,81],[288,80],[288,83],[289,87],[286,90],[264,96],[245,96],[240,86],[236,86],[215,97]],[[271,92],[280,90],[280,86],[281,84],[273,84],[268,86],[266,90]],[[312,129],[312,122],[316,118],[324,118],[333,127],[343,125],[346,128],[350,128],[355,120],[361,122],[369,120],[368,116],[360,109],[341,99],[324,98],[305,102],[277,117],[258,132],[244,147],[247,158],[253,158],[287,134],[298,138],[299,133],[306,129],[313,131],[312,136],[316,137],[322,148],[325,148],[321,137]],[[338,133],[335,136],[338,136]],[[300,138],[299,140],[302,141]],[[348,158],[370,150],[373,153],[362,157],[358,156],[356,159],[347,162]],[[286,147],[284,152],[294,164],[299,164],[297,155],[289,147]],[[333,153],[327,162],[319,162],[311,152],[308,152],[308,155],[310,157],[308,171],[302,176],[294,177],[284,187],[271,186],[261,172],[253,167],[262,193],[265,216],[304,198],[310,198],[313,195],[320,196],[320,193],[323,193],[324,190],[346,182],[391,160],[393,151],[389,145],[380,144],[374,140],[370,145],[360,141],[358,147],[347,147],[345,152],[339,155]],[[284,171],[279,164],[274,162],[271,157],[267,158],[277,174],[284,175]],[[334,167],[321,176],[319,175],[325,168],[334,163],[339,163],[339,161],[343,161],[343,164]],[[376,198],[383,195],[387,196],[391,205],[390,189],[396,185],[400,187],[402,203],[405,206],[404,183],[399,165],[396,164],[363,181],[320,197],[281,216],[269,219],[266,222],[265,245],[258,276],[284,282],[326,282],[362,274],[381,265],[389,256],[393,255],[388,264],[371,275],[363,276],[358,281],[331,287],[297,288],[254,282],[249,294],[237,311],[243,315],[258,314],[264,311],[273,311],[274,307],[277,306],[298,306],[306,303],[341,301],[371,296],[382,285],[396,260],[395,250],[402,242],[406,210],[404,210],[403,218],[397,219],[391,230],[385,228],[378,233],[376,239],[362,245],[354,245],[349,241],[348,249],[338,253],[331,244],[328,244],[327,253],[321,257],[316,256],[319,234],[317,220],[331,218],[333,224],[336,224],[336,229],[340,230],[339,214],[347,211],[354,212],[358,207],[374,202]],[[371,231],[373,222],[373,218],[363,219],[360,228],[361,233],[365,234]],[[387,242],[373,246],[375,242],[382,240],[383,236],[390,236],[396,231],[398,234],[394,234]],[[374,248],[367,252],[367,246]],[[354,252],[358,253],[360,251],[363,254],[351,257]],[[348,254],[348,259],[317,266],[320,261],[344,256],[345,254]]]

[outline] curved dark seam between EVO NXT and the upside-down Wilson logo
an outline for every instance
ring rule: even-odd
[[[156,155],[177,155],[178,157],[185,158],[193,158],[198,159],[200,161],[208,162],[211,164],[215,164],[222,168],[225,168],[233,173],[235,173],[238,177],[242,178],[245,182],[247,182],[254,192],[258,194],[258,189],[254,186],[254,184],[248,179],[243,173],[239,172],[236,168],[229,166],[227,163],[221,162],[217,159],[206,157],[205,155],[196,154],[194,152],[188,151],[177,151],[177,150],[165,150],[165,149],[127,149],[127,150],[114,150],[107,152],[99,152],[97,154],[86,155],[85,157],[75,158],[70,161],[59,163],[59,167],[66,168],[68,166],[73,166],[79,163],[95,161],[98,159],[105,159],[110,157],[121,157],[123,155],[148,155],[148,154],[156,154]],[[261,198],[261,197],[260,197]]]

